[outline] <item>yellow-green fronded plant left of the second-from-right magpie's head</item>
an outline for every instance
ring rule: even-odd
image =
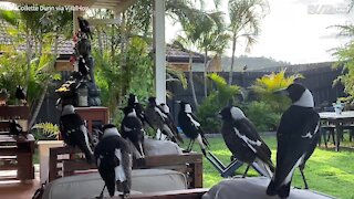
[[[237,85],[228,85],[225,78],[216,73],[211,73],[208,77],[214,82],[216,90],[200,104],[197,115],[201,126],[206,132],[216,133],[220,129],[221,121],[217,114],[235,101],[235,96],[240,93],[240,87]]]

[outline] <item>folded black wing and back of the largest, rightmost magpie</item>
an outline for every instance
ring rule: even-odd
[[[291,181],[294,168],[302,163],[304,164],[304,157],[311,150],[311,143],[317,137],[314,135],[319,128],[320,117],[313,112],[311,108],[305,111],[305,114],[299,115],[296,109],[290,108],[283,114],[277,130],[275,187]]]

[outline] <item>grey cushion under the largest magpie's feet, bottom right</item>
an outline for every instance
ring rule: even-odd
[[[266,195],[270,179],[266,177],[232,178],[220,181],[202,196],[202,199],[275,199]],[[292,188],[290,199],[329,199],[330,196],[312,190]]]

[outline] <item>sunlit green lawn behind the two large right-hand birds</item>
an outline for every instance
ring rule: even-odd
[[[230,151],[227,149],[221,137],[208,138],[210,149],[225,165],[230,163]],[[272,159],[275,163],[277,140],[274,137],[266,137],[264,142],[272,150]],[[185,142],[188,144],[188,142]],[[344,145],[348,145],[344,143]],[[353,144],[354,145],[354,144]],[[195,144],[194,150],[200,151]],[[246,167],[237,170],[237,175],[242,175]],[[343,199],[354,199],[354,151],[340,151],[333,149],[316,148],[306,164],[304,170],[310,189],[321,191]],[[248,176],[258,176],[250,169]],[[212,187],[222,180],[219,172],[212,165],[204,159],[204,187]],[[295,170],[292,181],[294,187],[303,187],[303,181],[299,169]]]

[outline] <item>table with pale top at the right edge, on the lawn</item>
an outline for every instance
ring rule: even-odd
[[[342,114],[336,114],[335,112],[321,112],[319,113],[319,115],[321,121],[326,121],[330,124],[335,125],[335,150],[340,151],[340,142],[343,135],[343,125],[354,123],[354,111],[342,112]]]

